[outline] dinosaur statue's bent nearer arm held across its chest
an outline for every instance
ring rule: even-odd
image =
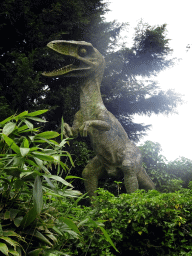
[[[102,120],[90,120],[83,123],[83,125],[79,128],[79,132],[81,136],[86,137],[89,127],[94,127],[100,131],[109,131],[111,126]]]

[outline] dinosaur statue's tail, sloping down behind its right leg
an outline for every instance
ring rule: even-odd
[[[143,167],[137,173],[137,179],[138,179],[138,183],[139,183],[139,188],[145,189],[145,190],[155,189],[155,184],[149,178],[148,174],[146,173],[146,171]]]

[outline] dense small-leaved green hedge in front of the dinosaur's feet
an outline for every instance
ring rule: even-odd
[[[84,208],[86,216],[102,219],[119,253],[106,243],[100,231],[83,230],[89,239],[87,255],[187,255],[192,247],[190,190],[160,193],[138,190],[115,197],[98,190],[94,210]],[[82,213],[83,214],[83,213]],[[85,253],[77,244],[76,255]],[[186,254],[184,254],[186,253]]]

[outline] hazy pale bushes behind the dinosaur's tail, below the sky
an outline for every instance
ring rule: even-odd
[[[174,192],[182,187],[187,188],[192,179],[192,161],[181,157],[167,162],[161,155],[159,143],[146,141],[140,146],[143,155],[143,165],[147,173],[161,192]]]

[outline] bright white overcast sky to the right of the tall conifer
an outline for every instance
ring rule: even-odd
[[[168,161],[175,160],[179,156],[192,159],[191,1],[110,0],[109,2],[111,12],[106,14],[105,18],[107,21],[115,19],[129,23],[128,44],[132,41],[134,28],[141,18],[144,23],[151,26],[167,24],[167,38],[171,39],[169,45],[174,50],[173,56],[182,60],[173,68],[159,73],[155,80],[162,90],[174,89],[182,94],[186,103],[176,109],[178,115],[135,116],[134,121],[146,125],[152,124],[148,136],[145,136],[141,143],[146,140],[159,142],[162,154]],[[187,45],[191,45],[188,52],[186,52]]]

